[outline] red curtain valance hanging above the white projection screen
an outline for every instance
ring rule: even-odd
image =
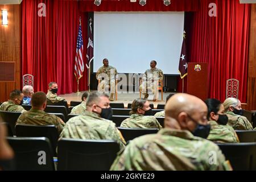
[[[150,0],[141,6],[139,2],[130,0],[102,0],[100,6],[94,5],[94,0],[80,1],[80,11],[197,11],[199,0],[171,0],[171,5],[165,6],[162,0]]]

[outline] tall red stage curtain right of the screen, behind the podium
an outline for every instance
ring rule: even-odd
[[[212,2],[217,5],[217,17],[208,15]],[[250,5],[239,0],[201,1],[200,11],[188,13],[185,23],[189,62],[209,63],[209,97],[224,101],[226,80],[236,78],[239,98],[246,102]],[[180,80],[180,92],[181,85]]]

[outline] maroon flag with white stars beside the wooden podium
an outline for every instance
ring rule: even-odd
[[[185,76],[188,75],[188,62],[187,62],[186,44],[185,44],[185,31],[183,32],[183,43],[182,43],[181,53],[180,53],[179,73],[180,73],[181,79],[183,79]]]

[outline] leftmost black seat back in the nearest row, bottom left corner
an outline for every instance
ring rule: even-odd
[[[15,153],[18,171],[54,171],[53,151],[48,138],[7,137]]]

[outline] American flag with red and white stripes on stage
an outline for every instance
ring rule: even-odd
[[[76,44],[76,60],[75,60],[75,76],[76,79],[79,80],[82,77],[82,72],[84,72],[84,60],[82,59],[82,50],[84,49],[82,43],[82,27],[81,27],[81,18],[79,25],[79,32],[77,36],[77,44]]]

